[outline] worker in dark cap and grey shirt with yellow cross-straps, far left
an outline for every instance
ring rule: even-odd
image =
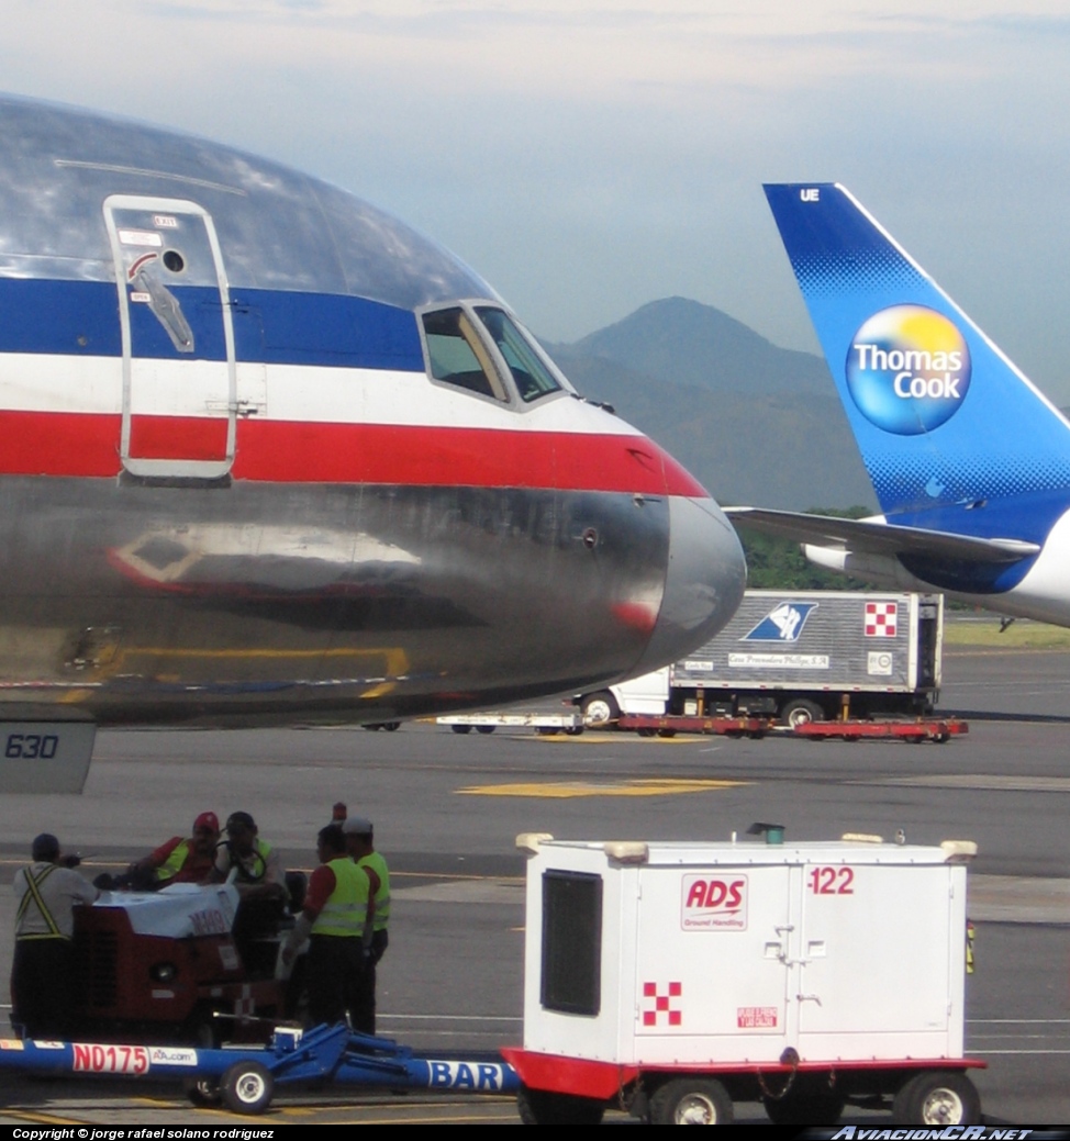
[[[74,1005],[74,907],[98,892],[65,864],[50,833],[37,836],[31,856],[15,873],[11,1021],[27,1038],[65,1042]]]

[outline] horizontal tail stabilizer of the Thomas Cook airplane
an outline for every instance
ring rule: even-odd
[[[1037,543],[1020,539],[978,539],[948,531],[898,527],[871,519],[837,519],[801,511],[772,511],[756,507],[729,507],[724,513],[737,527],[797,543],[870,555],[915,555],[927,558],[965,559],[971,563],[1017,563],[1038,553]]]

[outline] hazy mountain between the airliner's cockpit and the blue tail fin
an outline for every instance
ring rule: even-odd
[[[805,510],[875,496],[824,362],[668,298],[571,345],[577,389],[668,448],[721,503]]]

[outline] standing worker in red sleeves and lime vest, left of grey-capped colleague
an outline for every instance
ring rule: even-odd
[[[282,961],[290,965],[308,940],[305,978],[314,1025],[344,1021],[353,1002],[354,979],[364,965],[371,898],[371,880],[346,855],[346,840],[337,824],[320,830],[316,856],[320,866],[308,880],[305,905],[282,949]]]

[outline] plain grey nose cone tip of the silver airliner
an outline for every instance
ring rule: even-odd
[[[675,662],[732,617],[747,585],[735,528],[711,499],[669,499],[669,558],[653,633],[633,677]]]

